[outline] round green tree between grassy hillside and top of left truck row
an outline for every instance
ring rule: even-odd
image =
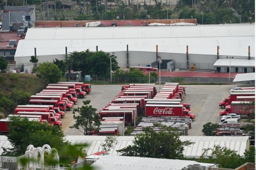
[[[61,79],[61,70],[52,62],[40,63],[37,71],[37,76],[49,83],[57,83]]]

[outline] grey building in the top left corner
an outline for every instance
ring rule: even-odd
[[[34,22],[34,6],[4,6],[1,32],[31,28]]]

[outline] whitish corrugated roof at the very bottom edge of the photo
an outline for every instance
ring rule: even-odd
[[[216,167],[215,164],[178,159],[156,159],[131,156],[100,156],[91,166],[99,170],[182,170],[193,164]]]

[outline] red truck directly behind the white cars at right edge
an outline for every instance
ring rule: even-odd
[[[255,105],[252,105],[251,102],[233,101],[230,105],[226,106],[224,111],[220,111],[220,116],[236,113],[241,115],[241,117],[248,117],[253,109],[255,109]]]

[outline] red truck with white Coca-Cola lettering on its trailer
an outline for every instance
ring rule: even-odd
[[[183,108],[183,105],[145,105],[145,116],[189,116],[195,119],[191,111]]]

